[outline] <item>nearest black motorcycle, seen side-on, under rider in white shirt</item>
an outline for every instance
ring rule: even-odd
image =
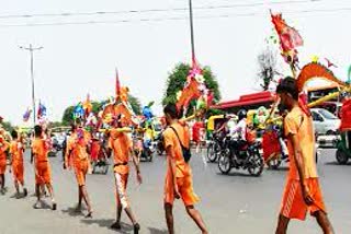
[[[240,139],[226,137],[224,150],[219,154],[218,167],[223,174],[228,174],[233,167],[248,169],[252,176],[260,176],[264,162],[260,154],[261,143],[242,142]]]

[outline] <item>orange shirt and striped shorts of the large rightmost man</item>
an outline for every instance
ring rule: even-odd
[[[312,214],[319,210],[326,212],[315,163],[316,154],[313,121],[299,107],[295,107],[285,117],[284,129],[286,136],[296,136],[298,139],[302,150],[301,160],[305,174],[304,183],[309,189],[314,203],[307,206],[304,201],[293,142],[288,140],[290,171],[284,189],[281,214],[290,219],[305,220],[307,211],[310,211]]]

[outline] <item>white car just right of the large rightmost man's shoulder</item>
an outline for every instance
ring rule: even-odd
[[[324,108],[312,108],[312,117],[317,134],[336,134],[340,127],[340,119]]]

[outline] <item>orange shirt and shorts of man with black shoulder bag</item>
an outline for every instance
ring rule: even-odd
[[[189,129],[180,124],[174,124],[172,127],[177,130],[180,140],[184,147],[190,144],[190,133]],[[177,186],[180,196],[185,206],[192,206],[196,203],[200,199],[193,190],[192,172],[188,163],[185,163],[181,144],[174,131],[171,128],[167,128],[163,132],[165,147],[166,149],[171,147],[173,151],[172,159],[176,162],[176,177]],[[172,168],[170,164],[170,155],[167,155],[167,175],[165,183],[165,202],[173,203],[174,201],[174,186],[172,179]]]

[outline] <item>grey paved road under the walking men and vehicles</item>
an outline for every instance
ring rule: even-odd
[[[27,154],[26,154],[27,156]],[[53,180],[58,202],[58,210],[34,210],[35,197],[16,200],[11,175],[8,176],[9,191],[0,196],[0,234],[70,234],[70,233],[115,233],[110,230],[114,221],[114,184],[111,171],[109,175],[89,175],[88,191],[94,208],[93,219],[83,219],[72,212],[77,199],[77,188],[72,172],[61,168],[60,157],[50,160]],[[259,178],[246,172],[233,171],[229,176],[218,173],[216,164],[205,166],[200,155],[193,156],[195,191],[202,198],[197,206],[211,233],[274,233],[280,208],[286,167],[280,171],[265,171]],[[33,194],[33,169],[26,163],[25,179]],[[165,157],[157,157],[152,163],[143,163],[144,184],[138,187],[134,172],[131,177],[128,194],[133,210],[141,224],[141,233],[162,234],[166,223],[162,210],[162,188],[165,177]],[[335,151],[322,151],[318,163],[320,182],[327,208],[336,233],[348,234],[351,230],[351,186],[350,165],[335,163]],[[182,203],[174,209],[177,233],[199,233],[193,222],[186,217]],[[124,231],[132,233],[126,217],[123,217]],[[320,233],[312,218],[306,222],[293,222],[288,233]]]

